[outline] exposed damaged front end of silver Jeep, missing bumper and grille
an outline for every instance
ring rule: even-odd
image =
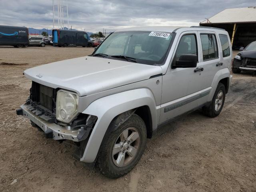
[[[16,114],[28,118],[32,126],[44,132],[46,138],[72,140],[80,146],[80,142],[89,137],[97,117],[77,113],[68,123],[59,121],[56,118],[57,92],[57,89],[32,82],[30,96]]]

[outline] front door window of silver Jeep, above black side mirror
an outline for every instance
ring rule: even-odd
[[[180,39],[178,48],[176,50],[173,63],[179,60],[180,56],[183,54],[197,54],[197,44],[196,44],[196,35],[188,34],[182,36]]]

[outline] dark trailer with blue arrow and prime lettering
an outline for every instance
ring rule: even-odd
[[[28,46],[28,28],[0,25],[0,45]]]

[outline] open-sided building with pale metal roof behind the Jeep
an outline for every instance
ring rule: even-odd
[[[225,9],[200,26],[223,28],[228,31],[233,48],[245,47],[256,40],[256,6]]]

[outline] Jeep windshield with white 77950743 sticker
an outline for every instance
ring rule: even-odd
[[[173,33],[151,31],[115,32],[100,44],[92,56],[162,64],[173,36]]]

